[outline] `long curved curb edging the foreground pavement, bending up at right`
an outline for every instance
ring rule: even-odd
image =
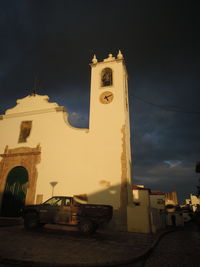
[[[26,260],[15,260],[15,259],[7,259],[7,258],[2,258],[0,256],[0,263],[3,264],[10,264],[13,266],[22,266],[22,267],[103,267],[103,266],[120,266],[120,265],[125,265],[125,264],[131,264],[135,263],[139,260],[146,259],[153,251],[153,249],[158,245],[159,241],[167,234],[174,232],[176,229],[170,229],[168,231],[165,231],[158,235],[156,240],[153,242],[153,244],[144,250],[141,254],[138,256],[129,258],[127,260],[121,260],[121,261],[113,261],[113,262],[104,262],[104,263],[56,263],[56,262],[38,262],[38,261],[26,261]]]

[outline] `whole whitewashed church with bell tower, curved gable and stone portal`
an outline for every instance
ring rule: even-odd
[[[0,115],[0,214],[55,196],[113,206],[112,227],[131,231],[128,74],[121,51],[91,66],[89,129],[63,106],[31,94]]]

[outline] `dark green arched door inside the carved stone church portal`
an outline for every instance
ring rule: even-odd
[[[26,199],[27,184],[28,172],[24,167],[18,166],[9,172],[2,199],[1,216],[20,216]]]

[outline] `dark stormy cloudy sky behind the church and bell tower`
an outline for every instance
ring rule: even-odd
[[[1,0],[0,114],[30,94],[88,127],[89,63],[121,49],[129,73],[134,184],[196,193],[200,161],[198,0]]]

